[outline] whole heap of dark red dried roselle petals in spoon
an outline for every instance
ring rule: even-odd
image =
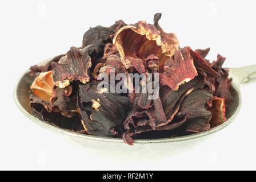
[[[82,47],[71,47],[44,67],[30,68],[35,77],[30,105],[37,117],[66,130],[101,137],[179,137],[210,130],[226,121],[231,79],[222,68],[225,57],[210,63],[210,48],[179,47],[177,37],[145,21],[90,28]],[[99,73],[159,73],[159,97],[104,93]]]

